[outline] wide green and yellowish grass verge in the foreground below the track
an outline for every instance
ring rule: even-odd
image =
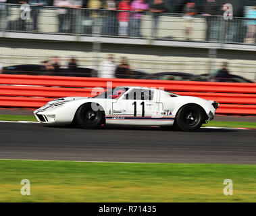
[[[256,165],[0,160],[0,202],[256,202],[255,179]]]

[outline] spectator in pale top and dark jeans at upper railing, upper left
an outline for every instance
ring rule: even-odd
[[[59,32],[66,33],[70,29],[68,25],[68,19],[70,17],[70,7],[72,3],[70,0],[54,0],[53,5],[57,8],[57,14],[59,18]]]

